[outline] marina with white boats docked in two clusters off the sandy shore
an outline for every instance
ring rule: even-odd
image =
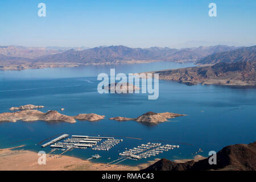
[[[47,147],[50,145],[52,148],[51,154],[54,151],[61,150],[61,154],[63,155],[67,151],[71,151],[75,148],[78,149],[87,149],[90,148],[91,150],[98,150],[98,151],[109,151],[115,145],[123,142],[123,139],[115,139],[114,137],[91,137],[88,135],[71,135],[71,138],[68,134],[63,134],[56,139],[51,140],[50,142],[43,144],[42,147]],[[63,140],[63,141],[60,141]],[[159,142],[148,142],[146,144],[141,144],[137,147],[130,148],[125,151],[120,152],[120,158],[109,162],[108,164],[118,164],[127,159],[130,160],[139,160],[139,159],[147,159],[151,156],[156,156],[162,154],[163,152],[174,150],[174,148],[179,148],[179,145],[172,145],[172,144],[162,144]],[[118,150],[119,151],[119,150]],[[89,159],[98,159],[101,156],[96,154],[92,155]]]

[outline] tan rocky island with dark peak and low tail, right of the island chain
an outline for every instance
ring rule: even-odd
[[[138,118],[125,118],[125,117],[114,117],[109,118],[115,121],[136,121],[141,123],[160,123],[168,121],[167,119],[179,117],[185,114],[176,114],[176,113],[154,113],[149,111],[147,113],[142,114]]]

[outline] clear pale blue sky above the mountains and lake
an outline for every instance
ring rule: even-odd
[[[40,2],[46,4],[46,17],[38,16]],[[211,2],[217,17],[208,15]],[[251,46],[256,44],[255,9],[254,0],[0,1],[0,45],[179,47],[198,41]]]

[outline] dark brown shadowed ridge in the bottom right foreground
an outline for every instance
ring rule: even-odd
[[[210,158],[210,157],[209,157]],[[249,144],[234,144],[222,148],[217,152],[217,164],[210,165],[207,159],[195,162],[175,163],[161,159],[142,171],[255,171],[256,170],[256,142]]]

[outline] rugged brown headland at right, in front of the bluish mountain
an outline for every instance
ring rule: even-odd
[[[190,67],[156,71],[159,79],[181,82],[187,85],[256,85],[256,61],[218,63],[207,67]]]

